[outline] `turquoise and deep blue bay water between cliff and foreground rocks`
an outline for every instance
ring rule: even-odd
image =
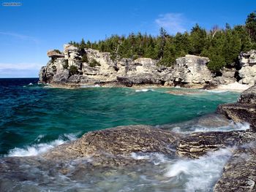
[[[29,83],[31,83],[29,85]],[[47,88],[37,79],[0,80],[0,154],[88,131],[131,124],[162,125],[214,112],[238,93],[178,88]]]

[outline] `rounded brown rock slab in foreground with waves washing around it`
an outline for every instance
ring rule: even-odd
[[[84,134],[80,139],[59,145],[42,157],[70,161],[93,158],[94,165],[130,164],[131,153],[163,153],[174,155],[173,147],[180,136],[151,126],[119,126]]]

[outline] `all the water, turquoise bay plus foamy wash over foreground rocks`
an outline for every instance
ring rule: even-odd
[[[184,94],[186,91],[189,94]],[[243,130],[249,125],[236,125],[216,115],[207,118],[218,104],[234,102],[237,97],[238,93],[233,92],[181,88],[67,90],[37,85],[37,79],[0,79],[0,154],[2,157],[38,155],[88,131],[131,124],[181,133]],[[10,174],[14,177],[19,172],[22,176],[18,174],[17,180],[10,180],[8,174],[1,176],[0,189],[211,191],[230,157],[230,150],[220,150],[198,160],[155,153],[131,156],[145,158],[148,164],[91,169],[88,159],[60,165],[45,162],[45,167],[19,162]],[[64,168],[69,172],[60,171]]]

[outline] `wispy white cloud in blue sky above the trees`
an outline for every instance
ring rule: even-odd
[[[187,31],[187,19],[181,13],[166,13],[155,20],[159,27],[165,28],[170,34]]]

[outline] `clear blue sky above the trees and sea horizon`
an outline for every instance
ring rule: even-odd
[[[157,35],[189,31],[195,23],[244,24],[255,0],[0,0],[0,77],[37,77],[48,62],[47,50],[63,50],[70,40],[95,41],[111,34]],[[5,7],[5,2],[20,2]]]

